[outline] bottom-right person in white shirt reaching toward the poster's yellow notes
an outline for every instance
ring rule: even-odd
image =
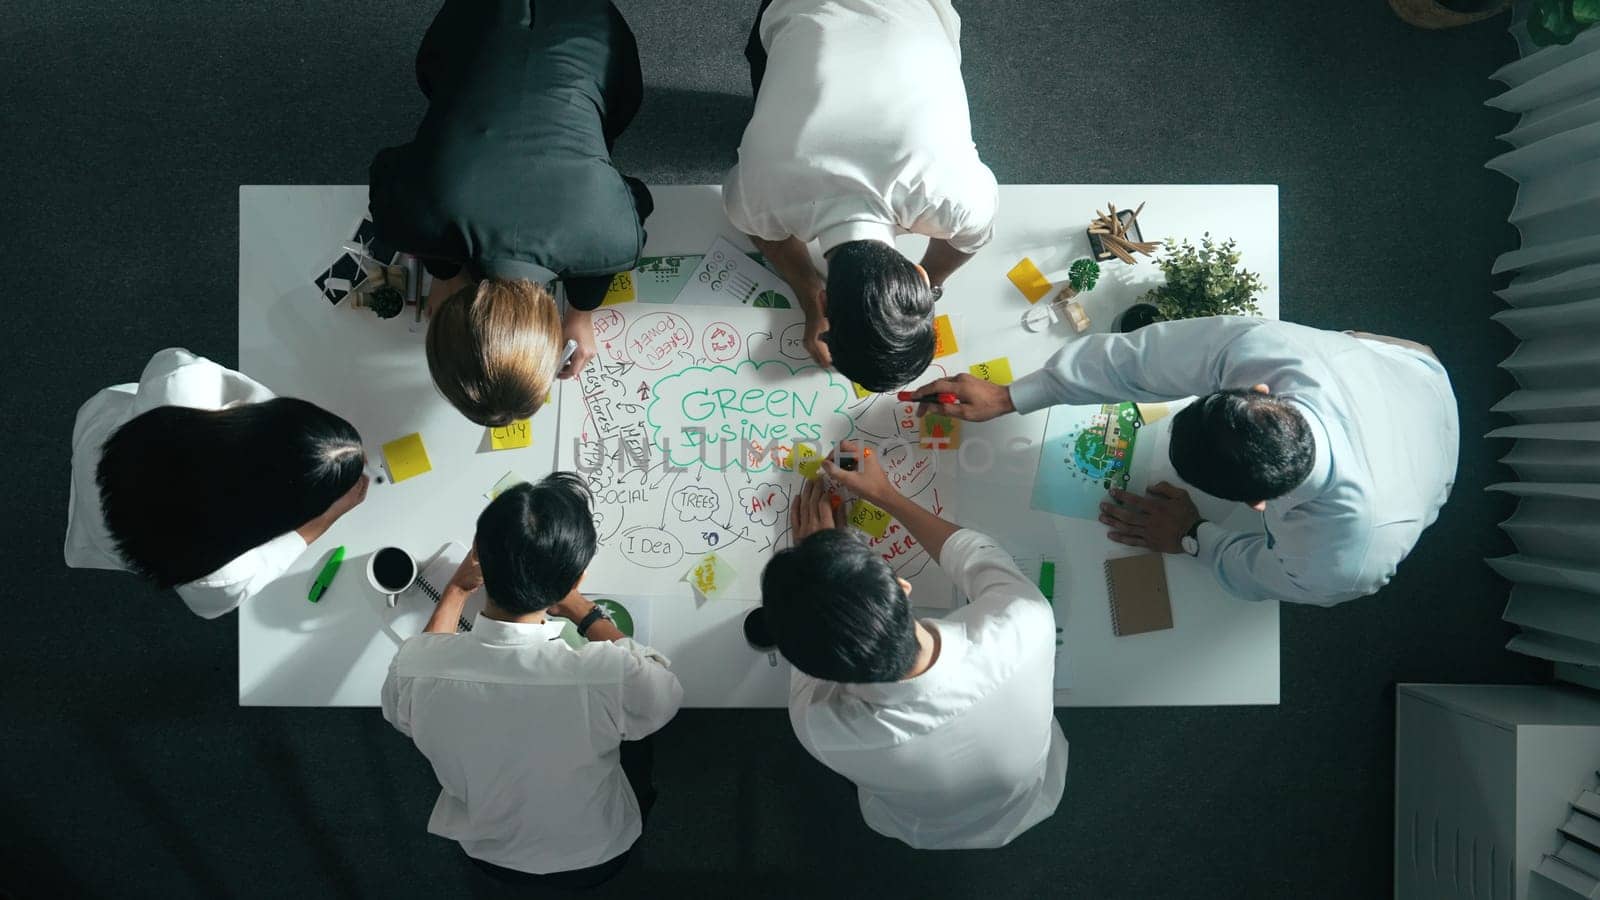
[[[768,631],[794,666],[789,722],[854,781],[874,831],[917,849],[1002,847],[1066,786],[1054,613],[992,538],[902,496],[862,450],[842,442],[858,466],[829,460],[829,477],[904,525],[970,602],[912,615],[910,583],[808,482],[790,504],[792,546],[762,572]]]

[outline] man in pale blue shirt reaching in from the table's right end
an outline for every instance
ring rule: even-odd
[[[1414,341],[1218,315],[1090,335],[1002,388],[958,375],[923,404],[984,421],[1051,404],[1200,399],[1173,416],[1178,479],[1261,512],[1264,533],[1206,522],[1189,493],[1112,490],[1114,541],[1198,557],[1232,594],[1334,605],[1394,578],[1456,480],[1450,375]]]

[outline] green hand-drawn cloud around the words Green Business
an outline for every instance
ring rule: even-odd
[[[782,360],[741,360],[728,365],[691,365],[654,383],[645,408],[650,440],[674,466],[726,469],[744,464],[765,471],[768,450],[797,440],[821,444],[856,431],[845,407],[850,383],[814,365]]]

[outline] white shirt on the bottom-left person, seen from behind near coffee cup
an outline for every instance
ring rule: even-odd
[[[443,788],[427,830],[467,855],[547,874],[600,865],[640,834],[619,745],[683,701],[667,660],[632,639],[562,641],[565,620],[478,615],[400,645],[382,708]]]

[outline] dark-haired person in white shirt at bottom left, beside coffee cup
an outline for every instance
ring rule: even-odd
[[[622,870],[654,801],[640,741],[683,701],[667,660],[578,593],[594,551],[576,476],[499,495],[427,631],[402,644],[384,681],[384,719],[443,788],[427,830],[504,882],[592,887]],[[483,612],[456,634],[480,585]],[[568,645],[566,621],[589,644]]]

